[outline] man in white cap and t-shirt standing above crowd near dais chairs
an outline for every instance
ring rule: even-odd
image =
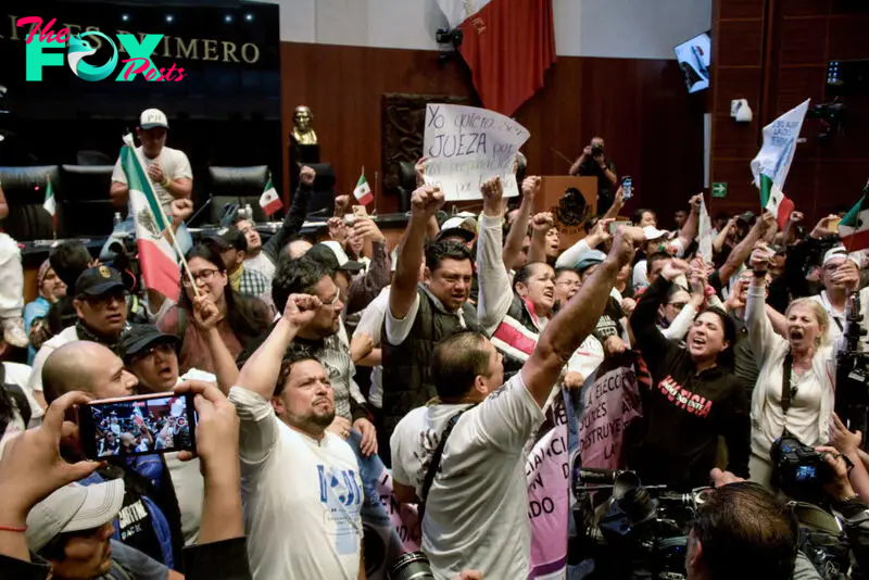
[[[173,200],[190,199],[193,191],[193,171],[190,168],[190,161],[187,154],[179,149],[166,147],[166,136],[169,123],[166,114],[159,109],[147,109],[142,111],[139,118],[139,126],[136,127],[136,137],[141,144],[136,148],[136,153],[144,164],[144,171],[151,178],[154,186],[154,193],[163,206],[166,216],[172,214],[171,205]],[[127,186],[127,174],[121,165],[121,157],[115,162],[112,172],[112,186],[109,189],[112,202],[118,210],[129,203],[129,187]],[[103,245],[100,256],[105,259],[109,245],[118,237],[123,238],[131,235],[135,226],[131,217],[115,226],[112,236]],[[192,239],[186,227],[180,227],[175,231],[181,251],[192,247]]]

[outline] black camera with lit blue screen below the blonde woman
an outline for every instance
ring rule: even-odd
[[[833,469],[824,461],[826,453],[819,453],[789,432],[772,443],[773,480],[785,495],[808,503],[821,503],[824,497],[823,484],[835,477]]]

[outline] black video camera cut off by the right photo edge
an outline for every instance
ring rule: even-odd
[[[861,349],[866,330],[860,325],[864,318],[860,310],[860,294],[853,292],[845,308],[846,344],[837,353],[835,412],[848,429],[864,433],[865,444],[869,431],[869,353]]]

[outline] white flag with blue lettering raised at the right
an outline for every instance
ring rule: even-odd
[[[764,146],[752,161],[752,174],[756,187],[760,187],[760,174],[764,174],[772,178],[772,184],[779,189],[784,190],[784,179],[791,169],[809,100],[806,99],[764,127]]]

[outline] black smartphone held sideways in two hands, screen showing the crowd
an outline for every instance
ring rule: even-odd
[[[78,407],[81,449],[89,459],[196,453],[193,393],[102,399]]]

